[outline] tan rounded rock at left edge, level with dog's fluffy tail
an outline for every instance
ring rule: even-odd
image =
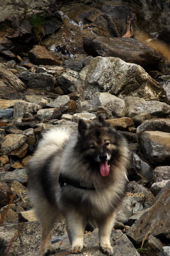
[[[22,134],[8,134],[4,137],[1,148],[4,154],[8,154],[19,148],[26,141],[27,137]]]

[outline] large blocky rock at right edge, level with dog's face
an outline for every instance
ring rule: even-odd
[[[142,133],[144,156],[156,165],[170,161],[170,134],[162,131],[144,131]]]

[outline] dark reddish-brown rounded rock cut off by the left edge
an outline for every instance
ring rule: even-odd
[[[0,208],[9,203],[11,195],[13,195],[13,192],[10,187],[5,181],[0,180]]]

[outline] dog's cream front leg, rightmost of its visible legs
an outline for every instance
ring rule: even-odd
[[[113,247],[110,243],[110,237],[114,221],[115,213],[98,222],[100,250],[108,256],[113,255]]]

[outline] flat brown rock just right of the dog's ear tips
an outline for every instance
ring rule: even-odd
[[[120,131],[125,131],[128,127],[134,125],[133,120],[129,117],[108,119],[105,120],[105,122],[108,123],[111,127]]]

